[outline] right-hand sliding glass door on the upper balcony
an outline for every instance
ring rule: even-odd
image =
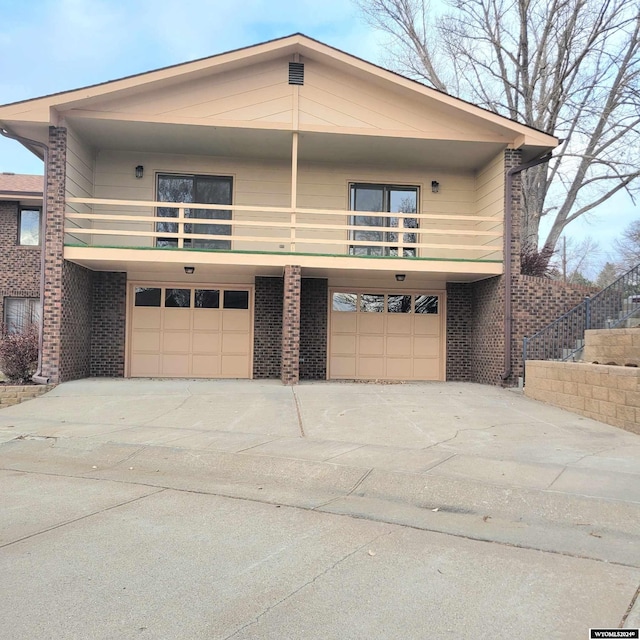
[[[380,212],[380,216],[353,215],[351,224],[363,227],[351,231],[350,239],[356,241],[385,242],[387,246],[380,245],[352,245],[349,253],[356,256],[397,256],[399,248],[394,246],[398,240],[402,240],[403,257],[415,257],[415,247],[407,247],[408,244],[417,242],[416,233],[400,234],[395,231],[369,230],[366,227],[403,227],[405,229],[417,229],[416,218],[403,218],[402,220],[392,215],[394,213],[418,212],[418,187],[403,187],[385,184],[354,183],[350,185],[349,194],[352,211]]]

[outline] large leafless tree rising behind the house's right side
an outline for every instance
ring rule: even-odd
[[[639,0],[354,0],[397,71],[562,139],[523,174],[525,251],[640,176]],[[543,217],[553,222],[543,242]]]

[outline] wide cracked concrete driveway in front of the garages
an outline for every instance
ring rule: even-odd
[[[640,437],[513,391],[77,381],[0,411],[0,482],[2,639],[640,624]]]

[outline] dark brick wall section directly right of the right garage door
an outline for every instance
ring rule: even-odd
[[[472,285],[447,284],[447,380],[471,380]]]

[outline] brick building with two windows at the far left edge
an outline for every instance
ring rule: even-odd
[[[0,173],[0,324],[19,331],[40,315],[43,176]]]

